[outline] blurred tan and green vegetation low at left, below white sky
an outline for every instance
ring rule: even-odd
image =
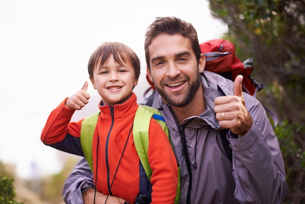
[[[78,160],[77,156],[68,156],[58,174],[36,180],[18,178],[14,165],[0,161],[0,204],[64,204],[63,185]],[[33,188],[33,182],[38,186]]]

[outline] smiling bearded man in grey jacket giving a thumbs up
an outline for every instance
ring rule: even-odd
[[[233,83],[204,71],[195,29],[173,17],[152,22],[145,53],[157,90],[152,106],[165,118],[180,165],[180,203],[280,204],[288,189],[279,143],[264,107],[242,92],[242,76]],[[223,129],[230,129],[232,163],[221,143]],[[85,204],[105,203],[89,176],[85,165],[76,167],[65,183],[66,202],[82,197]]]

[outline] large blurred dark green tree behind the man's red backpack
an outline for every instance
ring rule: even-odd
[[[209,0],[211,14],[228,24],[224,38],[266,87],[257,98],[273,109],[286,163],[288,204],[305,203],[305,0]]]

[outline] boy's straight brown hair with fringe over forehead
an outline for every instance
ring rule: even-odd
[[[141,66],[138,56],[133,49],[120,42],[104,42],[92,53],[88,62],[88,73],[92,79],[97,61],[101,59],[99,66],[102,66],[111,55],[113,55],[114,61],[121,65],[123,62],[130,61],[133,65],[135,80],[139,79]]]

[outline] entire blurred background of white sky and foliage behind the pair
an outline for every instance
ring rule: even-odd
[[[41,143],[48,115],[89,80],[89,57],[105,41],[138,54],[140,101],[149,87],[144,34],[158,16],[191,22],[199,42],[233,41],[242,61],[253,57],[252,75],[266,85],[257,98],[279,119],[286,203],[305,203],[305,0],[0,0],[0,176],[14,179],[16,200],[63,203],[64,180],[80,157]],[[73,120],[97,110],[99,96],[91,85],[88,92]]]

